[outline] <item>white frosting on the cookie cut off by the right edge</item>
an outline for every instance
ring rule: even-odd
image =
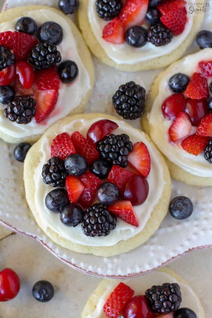
[[[165,118],[161,111],[163,101],[173,94],[169,87],[169,78],[175,73],[181,72],[191,76],[198,71],[198,63],[200,61],[212,60],[212,49],[204,49],[193,55],[188,55],[182,62],[174,64],[174,66],[165,74],[160,82],[159,93],[150,114],[148,114],[149,124],[151,125],[151,136],[156,142],[158,148],[171,161],[174,162],[181,169],[203,177],[211,177],[211,164],[204,159],[203,153],[198,156],[189,154],[181,147],[181,142],[174,144],[169,141],[168,129],[172,120]],[[211,78],[209,78],[209,83]],[[196,127],[192,128],[191,134],[196,132]]]

